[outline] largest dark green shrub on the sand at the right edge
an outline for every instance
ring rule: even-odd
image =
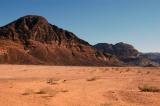
[[[141,85],[138,88],[141,92],[160,92],[160,89],[155,86]]]

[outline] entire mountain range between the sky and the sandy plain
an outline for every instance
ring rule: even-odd
[[[122,42],[92,46],[42,16],[27,15],[0,27],[0,63],[158,66],[160,54],[143,54]]]

